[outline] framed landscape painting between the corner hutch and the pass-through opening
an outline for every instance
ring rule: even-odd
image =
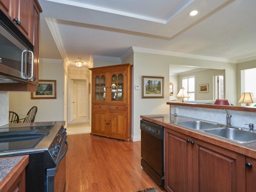
[[[163,98],[164,77],[142,76],[141,98]]]

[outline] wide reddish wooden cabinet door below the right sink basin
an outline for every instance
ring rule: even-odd
[[[193,192],[245,192],[245,156],[196,140],[193,145]]]

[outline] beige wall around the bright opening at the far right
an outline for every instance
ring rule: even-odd
[[[252,69],[252,68],[256,68],[256,60],[253,61],[246,61],[243,63],[238,63],[237,64],[237,101],[240,99],[241,97],[241,70],[245,70],[245,69]],[[238,103],[237,105],[241,105],[240,103]]]

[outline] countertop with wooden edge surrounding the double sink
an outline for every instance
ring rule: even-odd
[[[248,144],[241,144],[236,141],[231,141],[226,138],[221,138],[219,136],[215,136],[212,134],[208,134],[202,131],[198,131],[191,128],[182,127],[180,125],[174,124],[175,122],[185,122],[185,121],[202,121],[202,122],[209,122],[204,121],[201,119],[189,118],[179,115],[169,115],[169,114],[161,114],[161,115],[141,115],[141,118],[147,120],[149,122],[156,123],[158,125],[162,125],[165,128],[170,128],[174,131],[178,131],[184,134],[188,134],[194,138],[201,139],[203,141],[207,141],[212,144],[216,144],[220,147],[224,147],[229,150],[236,151],[237,153],[244,154],[249,157],[256,158],[256,142],[248,143]],[[213,124],[217,124],[214,122],[209,122]]]

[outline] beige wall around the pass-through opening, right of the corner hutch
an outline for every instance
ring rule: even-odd
[[[237,101],[237,85],[236,85],[236,64],[224,63],[220,61],[207,61],[192,58],[180,58],[175,56],[148,54],[134,52],[133,66],[133,85],[141,86],[141,76],[162,76],[164,79],[164,99],[141,99],[141,90],[134,90],[133,94],[133,119],[132,119],[132,135],[134,138],[140,138],[140,115],[150,114],[166,114],[169,113],[169,107],[166,102],[169,101],[169,65],[186,65],[194,67],[207,67],[225,70],[226,74],[226,98],[231,103]]]

